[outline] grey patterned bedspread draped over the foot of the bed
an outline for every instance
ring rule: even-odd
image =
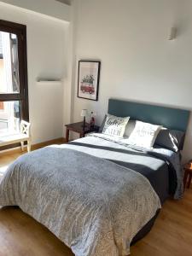
[[[76,256],[128,255],[160,208],[158,195],[143,175],[70,147],[16,160],[0,183],[0,206],[19,206]]]

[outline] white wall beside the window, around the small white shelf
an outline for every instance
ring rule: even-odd
[[[49,141],[63,134],[63,85],[39,85],[36,79],[63,78],[67,25],[44,16],[27,14],[0,3],[0,19],[27,27],[29,115],[32,143]]]

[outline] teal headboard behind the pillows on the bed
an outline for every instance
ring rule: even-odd
[[[166,108],[137,102],[125,102],[115,99],[108,101],[108,113],[131,119],[141,120],[154,125],[163,125],[172,130],[186,131],[189,122],[189,110]]]

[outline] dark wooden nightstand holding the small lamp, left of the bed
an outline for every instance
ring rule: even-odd
[[[83,126],[83,122],[73,123],[66,125],[66,142],[68,143],[69,131],[75,131],[79,133],[79,137],[84,137],[86,133],[97,132],[99,131],[99,126],[95,125],[93,128],[90,128],[88,123]]]

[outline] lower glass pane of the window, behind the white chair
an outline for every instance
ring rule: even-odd
[[[20,102],[0,102],[0,137],[20,131]]]

